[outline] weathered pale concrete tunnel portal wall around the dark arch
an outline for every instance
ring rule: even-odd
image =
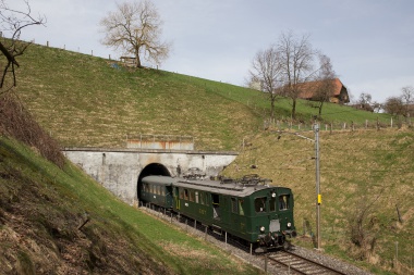
[[[63,150],[63,153],[96,182],[131,205],[136,205],[138,184],[146,175],[182,176],[196,172],[206,177],[217,176],[238,155],[236,152],[219,151],[97,148],[71,148]]]

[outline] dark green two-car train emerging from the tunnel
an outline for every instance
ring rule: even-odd
[[[138,198],[252,243],[256,252],[289,249],[288,237],[296,236],[293,193],[269,182],[257,175],[236,180],[146,176]]]

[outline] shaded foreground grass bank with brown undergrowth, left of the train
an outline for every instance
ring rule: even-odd
[[[82,228],[81,225],[89,218]],[[192,251],[183,257],[183,251]],[[257,274],[211,245],[117,200],[0,137],[2,274]]]

